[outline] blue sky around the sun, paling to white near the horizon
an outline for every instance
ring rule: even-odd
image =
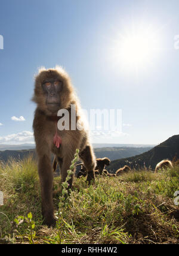
[[[72,77],[83,109],[122,110],[122,134],[97,132],[93,142],[158,144],[178,134],[178,0],[0,4],[1,144],[33,142],[33,76],[38,67],[57,64]],[[111,55],[114,41],[130,34],[132,24],[151,25],[160,48],[137,73]]]

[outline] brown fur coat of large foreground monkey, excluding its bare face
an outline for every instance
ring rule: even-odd
[[[57,130],[58,135],[61,137],[62,143],[60,148],[55,147],[53,143],[53,137],[55,135],[57,112],[51,112],[46,104],[46,98],[42,89],[42,82],[45,79],[51,79],[58,77],[63,82],[63,87],[59,92],[60,107],[59,109],[70,110],[70,104],[75,104],[76,112],[81,107],[79,106],[78,98],[76,97],[72,83],[66,71],[61,67],[51,68],[45,70],[42,68],[39,70],[38,75],[35,78],[35,89],[33,101],[37,104],[35,110],[35,117],[33,120],[33,130],[36,142],[36,152],[38,154],[38,172],[41,183],[41,195],[42,195],[42,215],[44,217],[44,224],[49,227],[55,225],[54,208],[53,208],[53,170],[51,167],[50,154],[55,155],[53,168],[56,168],[57,162],[60,165],[61,170],[61,182],[66,180],[67,170],[70,167],[72,159],[74,158],[76,149],[79,149],[79,156],[84,162],[87,168],[87,181],[94,180],[94,167],[96,165],[94,152],[89,140],[87,131],[72,130],[69,131]],[[71,115],[69,116],[71,120]],[[60,117],[58,117],[60,119]],[[81,120],[81,116],[76,118],[76,122]],[[71,124],[70,124],[71,127]],[[72,186],[73,177],[69,180],[69,188]]]

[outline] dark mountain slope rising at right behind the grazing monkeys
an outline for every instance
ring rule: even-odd
[[[147,168],[155,169],[156,164],[162,159],[172,160],[174,157],[179,159],[179,135],[168,138],[168,140],[140,155],[112,161],[107,169],[114,172],[125,164],[131,168],[143,168],[146,166]]]

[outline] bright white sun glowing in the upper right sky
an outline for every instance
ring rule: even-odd
[[[152,26],[132,26],[113,41],[115,64],[127,70],[140,70],[153,65],[160,49],[158,31]]]

